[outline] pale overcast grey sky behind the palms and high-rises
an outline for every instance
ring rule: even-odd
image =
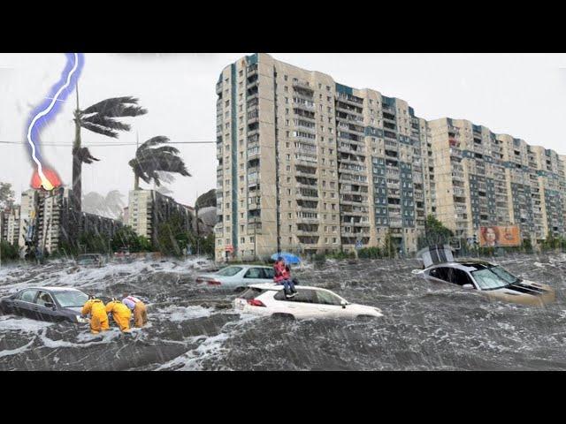
[[[215,87],[221,70],[249,53],[86,54],[79,81],[80,105],[108,97],[133,95],[149,110],[127,118],[130,133],[116,142],[140,142],[156,135],[172,141],[216,140]],[[562,125],[566,117],[564,54],[298,54],[276,59],[310,71],[325,72],[341,84],[372,88],[409,102],[419,117],[470,119],[494,133],[509,133],[528,143],[566,154]],[[65,66],[63,54],[0,53],[0,181],[19,192],[32,174],[24,148],[26,121]],[[74,96],[42,133],[43,143],[73,141]],[[84,144],[108,143],[83,130]],[[180,145],[191,178],[169,188],[183,203],[216,186],[216,146]],[[117,189],[127,195],[134,176],[127,162],[135,146],[92,147],[101,162],[83,166],[83,193]],[[71,180],[71,148],[42,148],[43,157],[65,184]],[[145,186],[142,184],[142,187]]]

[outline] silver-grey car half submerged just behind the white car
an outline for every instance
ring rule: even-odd
[[[217,272],[196,277],[196,284],[207,284],[231,290],[242,290],[250,284],[273,283],[274,271],[261,265],[231,265]]]

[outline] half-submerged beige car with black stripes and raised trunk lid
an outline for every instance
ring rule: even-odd
[[[555,291],[513,276],[500,265],[477,259],[455,261],[449,246],[431,246],[419,252],[424,269],[414,274],[432,282],[456,284],[464,289],[478,290],[491,299],[522,305],[544,306],[555,301]]]

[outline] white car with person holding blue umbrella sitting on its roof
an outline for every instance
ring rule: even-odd
[[[234,300],[234,309],[257,315],[290,318],[362,318],[383,316],[377,307],[349,303],[320,287],[296,286],[287,299],[281,284],[253,284]]]

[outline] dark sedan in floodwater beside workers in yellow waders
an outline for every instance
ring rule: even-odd
[[[88,296],[67,287],[30,287],[0,299],[0,312],[34,320],[87,323],[80,310]]]

